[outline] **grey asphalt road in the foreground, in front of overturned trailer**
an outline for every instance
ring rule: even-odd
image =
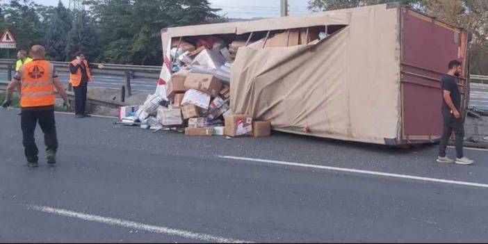
[[[488,240],[486,151],[441,165],[436,146],[190,137],[57,114],[58,165],[31,169],[16,113],[0,110],[2,242]],[[37,141],[42,158],[39,129]]]

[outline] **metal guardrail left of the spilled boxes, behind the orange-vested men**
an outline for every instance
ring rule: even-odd
[[[10,81],[12,79],[12,72],[15,67],[14,59],[0,59],[0,70],[7,70],[6,79]],[[52,61],[56,65],[56,70],[58,72],[69,72],[68,62],[56,62]],[[99,65],[99,63],[93,63]],[[121,79],[125,81],[125,86],[122,88],[127,92],[127,96],[132,95],[131,89],[131,79],[133,78],[147,78],[154,79],[156,82],[159,79],[159,73],[161,72],[161,67],[159,66],[149,66],[149,65],[115,65],[115,64],[104,64],[105,68],[103,70],[95,69],[92,70],[92,74],[106,74],[110,76],[120,76]]]

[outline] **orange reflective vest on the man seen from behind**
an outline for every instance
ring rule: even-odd
[[[32,60],[20,67],[20,106],[22,108],[52,106],[54,65],[46,60]]]

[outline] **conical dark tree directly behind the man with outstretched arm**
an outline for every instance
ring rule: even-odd
[[[74,58],[76,51],[83,51],[87,58],[96,58],[97,47],[97,33],[90,16],[84,10],[74,13],[72,29],[67,35],[67,58]]]

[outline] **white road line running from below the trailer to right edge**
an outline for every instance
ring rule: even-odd
[[[463,186],[476,186],[482,188],[488,188],[488,184],[480,184],[475,182],[466,182],[466,181],[453,181],[450,179],[436,179],[436,178],[429,178],[429,177],[416,177],[413,175],[407,174],[391,174],[386,172],[378,172],[378,171],[370,171],[370,170],[355,170],[350,168],[338,168],[338,167],[330,167],[330,166],[323,166],[323,165],[311,165],[305,163],[291,163],[291,162],[284,162],[284,161],[274,161],[274,160],[267,160],[267,159],[259,159],[259,158],[243,158],[238,156],[218,156],[220,158],[227,158],[227,159],[234,159],[238,161],[252,161],[252,162],[261,162],[261,163],[272,163],[277,165],[289,165],[289,166],[297,166],[297,167],[304,167],[304,168],[316,168],[321,170],[333,170],[333,171],[340,171],[340,172],[350,172],[350,173],[358,173],[358,174],[371,174],[371,175],[378,175],[383,177],[394,177],[394,178],[401,178],[401,179],[415,179],[418,181],[430,181],[430,182],[437,182],[437,183],[445,183],[445,184],[455,184],[455,185],[463,185]]]

